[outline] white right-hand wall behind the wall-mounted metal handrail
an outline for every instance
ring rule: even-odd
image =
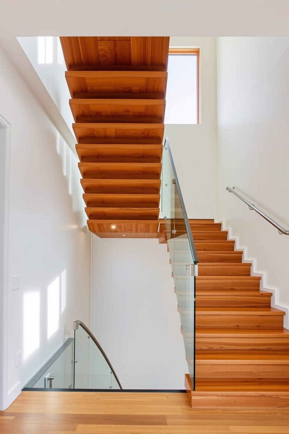
[[[286,309],[289,237],[226,186],[289,228],[289,38],[217,38],[218,220],[237,238],[273,306]]]

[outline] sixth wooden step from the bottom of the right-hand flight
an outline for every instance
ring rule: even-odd
[[[257,291],[260,289],[260,276],[197,276],[198,291]]]

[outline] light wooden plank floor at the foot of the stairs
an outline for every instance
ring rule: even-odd
[[[289,433],[289,410],[192,410],[186,393],[22,392],[0,433]]]

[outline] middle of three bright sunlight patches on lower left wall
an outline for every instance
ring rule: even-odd
[[[47,288],[47,339],[59,329],[59,276]]]

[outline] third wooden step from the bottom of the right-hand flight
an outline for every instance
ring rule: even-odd
[[[186,345],[193,345],[192,334],[182,331]],[[236,350],[289,352],[289,330],[196,329],[196,351]]]

